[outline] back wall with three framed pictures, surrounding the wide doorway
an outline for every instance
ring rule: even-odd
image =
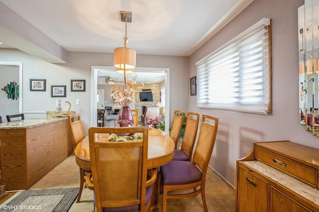
[[[16,49],[0,49],[1,61],[23,63],[23,108],[25,118],[45,117],[45,111],[55,110],[56,98],[51,98],[51,85],[66,85],[66,97],[61,106],[67,110],[65,101],[72,104],[71,110],[81,113],[84,132],[87,134],[91,120],[91,66],[112,66],[113,54],[69,52],[67,64],[52,64]],[[137,66],[168,68],[170,74],[170,110],[187,111],[188,85],[187,57],[137,55]],[[45,92],[31,92],[29,79],[46,79]],[[71,80],[86,80],[85,92],[71,92]],[[176,85],[178,83],[178,85]],[[107,90],[107,89],[106,89]],[[96,91],[95,91],[96,95]],[[75,105],[80,100],[80,105]]]

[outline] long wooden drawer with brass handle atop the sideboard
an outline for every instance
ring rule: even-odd
[[[255,147],[255,158],[290,174],[311,186],[317,187],[317,170],[304,164]]]

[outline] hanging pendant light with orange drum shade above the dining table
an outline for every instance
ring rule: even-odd
[[[132,12],[121,11],[121,21],[125,22],[125,37],[123,38],[124,47],[114,49],[114,66],[117,72],[124,74],[124,82],[126,83],[126,75],[134,73],[136,66],[136,51],[127,48],[129,39],[127,37],[127,23],[132,22]]]

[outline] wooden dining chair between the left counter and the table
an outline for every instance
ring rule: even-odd
[[[68,120],[69,120],[69,128],[71,131],[71,140],[72,140],[73,151],[74,151],[76,145],[78,145],[78,143],[80,143],[80,141],[83,140],[83,138],[85,137],[83,127],[82,127],[81,114],[77,113],[77,114],[69,115]],[[84,184],[85,177],[90,172],[91,170],[83,169],[80,167],[80,190],[79,190],[79,195],[78,195],[78,199],[76,200],[76,203],[80,202],[83,186],[85,185]]]

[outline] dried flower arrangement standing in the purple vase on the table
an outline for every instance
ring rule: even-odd
[[[117,82],[115,86],[111,89],[112,97],[115,98],[115,103],[120,103],[122,106],[129,106],[132,102],[135,102],[135,90],[137,75],[133,79],[123,86],[120,86],[120,83]]]

